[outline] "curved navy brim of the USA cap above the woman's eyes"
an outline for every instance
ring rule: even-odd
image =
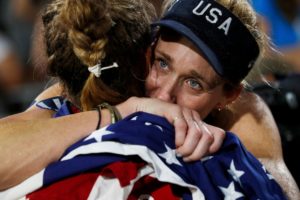
[[[203,54],[207,61],[212,65],[217,74],[221,76],[224,75],[223,67],[216,54],[199,38],[199,36],[195,35],[193,31],[188,27],[170,19],[163,19],[158,22],[154,22],[152,26],[167,27],[185,36],[198,48],[198,50]]]

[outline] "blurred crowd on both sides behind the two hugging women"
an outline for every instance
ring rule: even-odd
[[[25,110],[49,85],[40,29],[40,10],[47,1],[0,0],[0,117]],[[269,83],[257,82],[253,91],[274,115],[286,163],[299,184],[300,161],[293,156],[300,145],[300,0],[251,3],[278,50],[268,52],[263,62],[262,73]]]

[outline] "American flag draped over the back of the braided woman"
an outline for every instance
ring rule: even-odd
[[[227,132],[221,149],[186,163],[174,127],[138,112],[91,133],[0,199],[286,199],[264,166]]]

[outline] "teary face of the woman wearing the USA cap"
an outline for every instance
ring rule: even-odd
[[[146,80],[147,95],[196,110],[205,118],[213,109],[232,102],[239,90],[226,95],[222,79],[185,38],[159,39]]]

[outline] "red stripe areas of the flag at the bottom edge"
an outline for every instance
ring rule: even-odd
[[[87,199],[99,176],[116,178],[122,187],[128,186],[137,178],[144,162],[116,162],[97,171],[89,171],[57,181],[27,195],[28,200],[69,200]],[[158,181],[150,176],[140,177],[134,184],[128,200],[149,199],[179,200],[182,188]],[[118,191],[116,191],[118,192]],[[177,195],[176,195],[176,194]]]

